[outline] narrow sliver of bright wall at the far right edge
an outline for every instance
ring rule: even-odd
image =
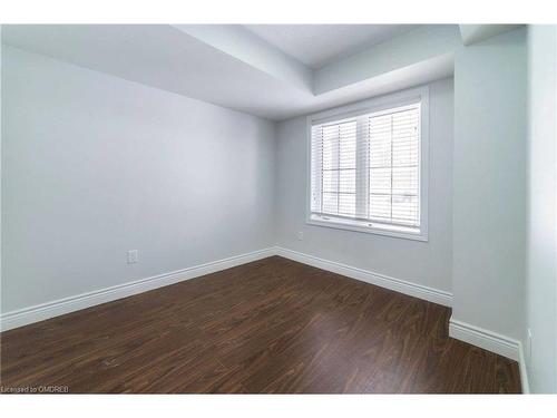
[[[557,27],[528,29],[526,328],[530,390],[557,392]],[[526,331],[526,330],[525,330]]]

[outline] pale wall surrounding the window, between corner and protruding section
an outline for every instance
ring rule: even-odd
[[[452,101],[452,79],[430,85],[429,242],[307,225],[307,128],[305,117],[299,117],[277,125],[277,244],[325,260],[450,291]],[[303,241],[297,240],[299,231],[304,233]]]

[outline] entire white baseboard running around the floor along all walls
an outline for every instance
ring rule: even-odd
[[[362,282],[375,284],[381,288],[387,288],[433,303],[439,303],[446,307],[452,305],[452,294],[450,292],[275,246],[7,312],[0,315],[0,331],[7,331],[13,328],[27,325],[29,323],[43,321],[49,318],[111,302],[121,298],[127,298],[134,294],[182,282],[184,280],[215,273],[272,255],[280,255],[285,259],[294,260],[317,269],[342,274]],[[518,361],[522,392],[529,393],[528,373],[526,370],[524,349],[520,341],[452,318],[449,321],[449,336]]]

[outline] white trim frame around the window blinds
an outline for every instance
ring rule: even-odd
[[[351,118],[369,113],[383,111],[390,108],[421,104],[420,114],[420,230],[412,231],[412,227],[395,226],[390,223],[373,221],[355,221],[342,218],[334,215],[314,215],[311,211],[311,187],[312,187],[312,125],[335,121],[343,118]],[[387,235],[399,239],[416,241],[429,241],[428,234],[428,201],[429,201],[429,86],[416,87],[394,94],[374,97],[355,104],[328,109],[306,118],[306,205],[305,222],[309,225],[325,226],[338,230],[362,232],[377,235]]]

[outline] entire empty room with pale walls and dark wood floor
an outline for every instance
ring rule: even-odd
[[[557,392],[556,26],[1,40],[2,393]]]

